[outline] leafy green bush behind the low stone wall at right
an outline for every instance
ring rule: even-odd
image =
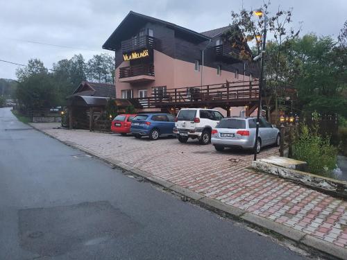
[[[308,171],[316,175],[332,177],[337,163],[337,148],[329,137],[321,137],[316,129],[302,125],[300,135],[293,144],[293,158],[307,162]]]

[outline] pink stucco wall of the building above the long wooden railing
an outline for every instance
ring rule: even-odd
[[[201,71],[194,70],[194,63],[176,60],[174,58],[153,51],[154,74],[155,80],[142,83],[121,83],[119,82],[119,67],[129,66],[129,62],[122,62],[116,69],[116,92],[117,97],[121,98],[121,90],[133,89],[133,95],[138,97],[139,89],[147,89],[147,93],[151,94],[152,87],[167,86],[167,89],[177,87],[190,87],[201,85]],[[201,67],[200,67],[201,69]],[[226,83],[235,80],[249,80],[249,77],[239,74],[239,78],[235,78],[235,73],[221,70],[221,75],[217,75],[217,69],[211,67],[203,67],[203,85],[212,85]]]

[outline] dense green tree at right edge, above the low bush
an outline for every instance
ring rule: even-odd
[[[347,116],[347,101],[342,96],[346,89],[346,49],[331,37],[304,35],[292,40],[287,59],[302,110]]]

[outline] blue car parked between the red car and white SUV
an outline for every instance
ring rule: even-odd
[[[130,132],[136,138],[148,136],[156,140],[163,136],[174,136],[175,118],[171,114],[138,114],[131,122]]]

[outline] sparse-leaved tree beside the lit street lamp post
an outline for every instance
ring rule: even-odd
[[[275,98],[276,103],[276,123],[278,110],[279,88],[287,78],[287,64],[285,61],[285,52],[289,49],[290,41],[296,38],[300,29],[294,30],[291,27],[292,8],[289,10],[280,10],[278,8],[274,15],[269,13],[270,3],[263,3],[262,11],[268,18],[269,40],[266,50],[265,75],[268,84],[264,87],[266,93],[266,106],[270,112],[270,102]],[[224,42],[231,44],[233,48],[239,49],[242,60],[252,61],[253,55],[259,55],[262,46],[262,33],[264,31],[264,19],[257,19],[253,15],[253,10],[242,9],[239,12],[233,12],[232,28],[223,35]],[[255,53],[249,51],[247,42],[255,40]],[[263,94],[264,94],[263,93]],[[269,118],[270,119],[270,118]]]

